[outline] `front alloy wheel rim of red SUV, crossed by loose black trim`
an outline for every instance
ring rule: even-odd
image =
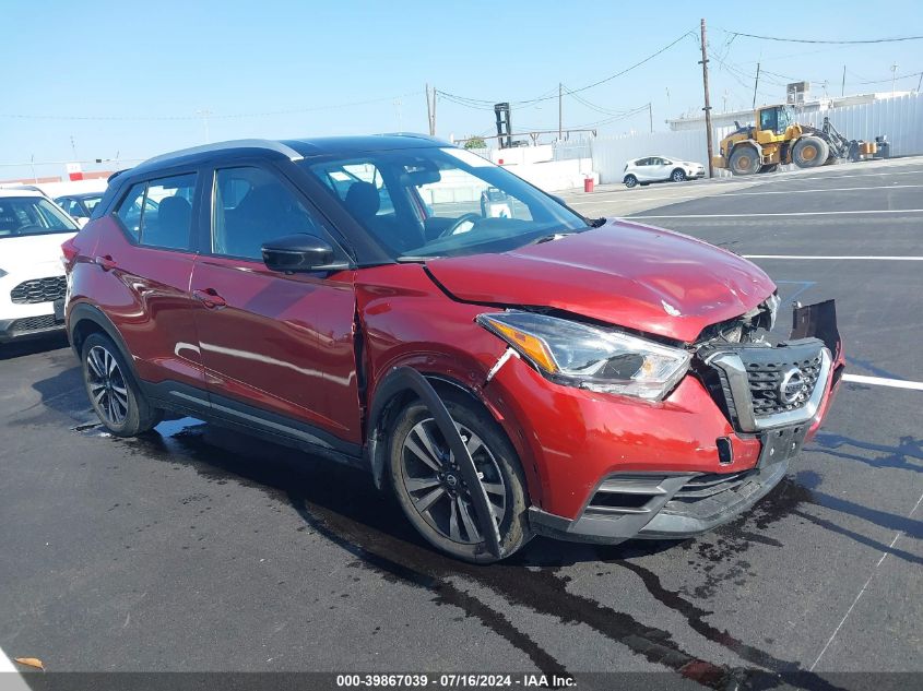
[[[499,524],[506,515],[507,488],[497,461],[477,434],[464,425],[457,427]],[[435,531],[454,543],[484,540],[471,492],[433,418],[421,420],[407,432],[401,446],[401,469],[414,509]]]

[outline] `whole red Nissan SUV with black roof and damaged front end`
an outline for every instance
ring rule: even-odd
[[[64,243],[103,425],[165,412],[367,469],[439,549],[682,537],[819,426],[832,302],[675,233],[588,219],[414,135],[239,141],[116,175]]]

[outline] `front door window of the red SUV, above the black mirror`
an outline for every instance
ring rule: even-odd
[[[262,246],[286,235],[327,237],[322,224],[273,174],[262,168],[215,171],[212,251],[262,260]]]

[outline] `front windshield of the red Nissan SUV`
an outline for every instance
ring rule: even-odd
[[[308,160],[394,261],[501,252],[587,221],[471,152],[413,148]]]

